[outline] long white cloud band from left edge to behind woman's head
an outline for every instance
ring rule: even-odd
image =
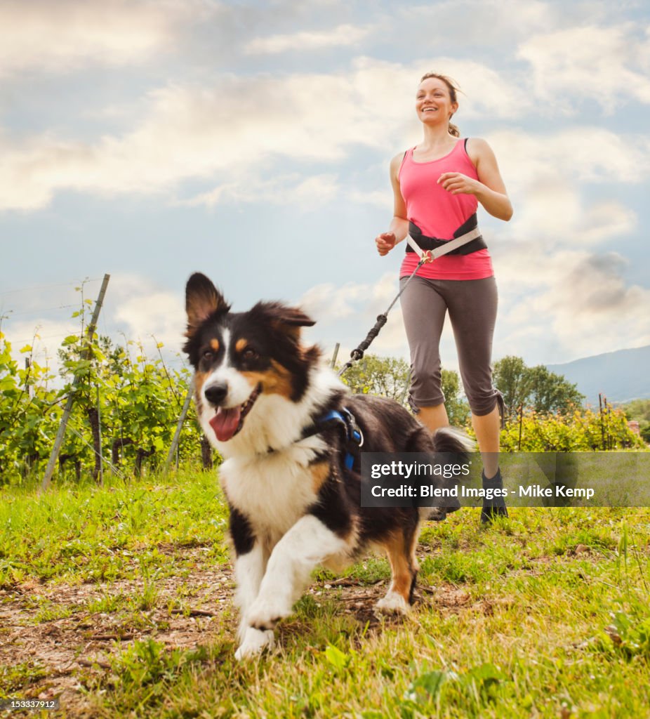
[[[21,141],[5,132],[0,210],[38,209],[60,190],[159,193],[188,178],[229,186],[233,175],[236,184],[250,183],[280,159],[334,162],[352,146],[385,152],[413,137],[418,66],[364,58],[339,75],[221,75],[211,87],[173,84],[148,94],[132,131],[96,142],[49,133]],[[470,86],[477,83],[468,116],[521,111],[521,93],[493,71],[466,62],[452,70]],[[387,87],[395,90],[390,102]]]

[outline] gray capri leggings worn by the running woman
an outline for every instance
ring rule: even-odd
[[[400,289],[408,278],[401,278]],[[428,280],[416,277],[401,296],[408,345],[411,347],[411,395],[414,411],[444,402],[440,372],[440,335],[444,317],[454,330],[462,385],[472,413],[489,414],[503,398],[492,386],[492,338],[497,315],[495,278]]]

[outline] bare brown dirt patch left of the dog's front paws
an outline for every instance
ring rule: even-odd
[[[197,559],[200,562],[200,557]],[[183,592],[179,592],[181,587]],[[191,587],[191,596],[183,600],[184,611],[170,613],[168,608],[178,603],[186,587]],[[227,567],[197,568],[183,577],[157,580],[155,606],[139,613],[145,626],[124,626],[119,612],[88,613],[84,609],[106,597],[139,597],[142,590],[142,582],[127,581],[110,585],[27,582],[0,590],[0,667],[24,665],[15,684],[21,683],[21,675],[33,679],[21,695],[60,697],[67,716],[90,717],[84,684],[110,671],[111,655],[147,637],[170,647],[206,644],[232,600],[232,575]],[[43,607],[55,616],[70,615],[37,622],[36,615]]]

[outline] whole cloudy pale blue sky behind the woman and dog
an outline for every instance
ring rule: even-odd
[[[101,334],[180,365],[198,270],[237,311],[301,305],[342,357],[398,291],[374,238],[429,70],[514,207],[479,211],[494,359],[650,344],[650,10],[626,0],[0,0],[1,331],[54,357],[108,273]],[[408,357],[399,306],[372,351]]]

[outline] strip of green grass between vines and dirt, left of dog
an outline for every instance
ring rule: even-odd
[[[40,495],[4,490],[0,504],[0,588],[41,581],[114,582],[183,572],[175,549],[209,546],[215,565],[227,560],[227,528],[214,476],[183,482],[122,482],[102,488],[65,485]]]

